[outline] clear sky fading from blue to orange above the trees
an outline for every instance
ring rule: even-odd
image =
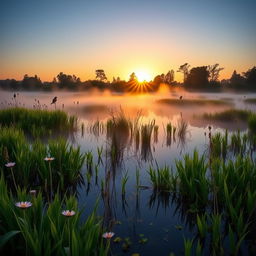
[[[256,65],[255,11],[255,0],[1,0],[0,79],[153,78],[186,62],[229,78]]]

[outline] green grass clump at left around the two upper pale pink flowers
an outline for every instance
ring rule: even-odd
[[[50,167],[44,161],[46,156],[55,158]],[[49,141],[48,145],[40,141],[29,144],[21,130],[0,128],[0,169],[11,183],[10,171],[4,166],[7,160],[16,163],[13,172],[19,186],[40,186],[47,193],[51,180],[55,191],[66,190],[81,182],[80,170],[85,155],[79,147],[74,148],[64,139]]]

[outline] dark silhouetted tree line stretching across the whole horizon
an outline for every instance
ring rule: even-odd
[[[95,71],[95,79],[87,81],[81,81],[79,77],[63,72],[60,72],[51,82],[42,82],[37,75],[28,76],[26,74],[21,81],[14,79],[1,80],[0,87],[2,89],[14,90],[86,90],[98,88],[100,90],[109,89],[117,92],[136,92],[138,88],[140,90],[144,89],[144,91],[157,91],[161,84],[167,84],[170,88],[180,86],[187,89],[199,90],[223,88],[256,90],[256,66],[241,74],[234,70],[229,79],[220,81],[219,76],[223,69],[217,63],[192,68],[188,63],[185,63],[180,65],[177,70],[177,72],[183,75],[182,83],[175,81],[175,71],[173,69],[169,70],[166,74],[157,75],[152,81],[145,81],[143,83],[138,82],[135,72],[130,74],[128,81],[122,80],[120,77],[113,77],[112,81],[109,81],[103,69],[97,69]]]

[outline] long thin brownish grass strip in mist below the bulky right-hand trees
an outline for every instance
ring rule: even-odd
[[[231,106],[232,102],[225,100],[210,100],[210,99],[160,99],[156,101],[157,104],[165,104],[170,106]]]

